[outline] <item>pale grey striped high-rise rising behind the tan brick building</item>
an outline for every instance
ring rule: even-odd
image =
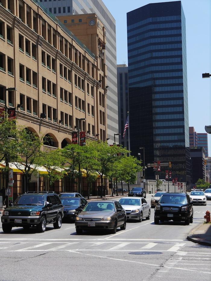
[[[102,0],[40,0],[42,4],[56,16],[93,14],[95,13],[105,27],[107,66],[107,137],[108,143],[113,144],[114,134],[118,133],[118,96],[117,96],[117,67],[116,67],[116,27],[115,19],[106,8]],[[80,20],[80,18],[79,18]],[[65,24],[65,22],[62,22]],[[72,24],[77,24],[74,18]],[[98,22],[90,24],[99,24]],[[95,54],[96,55],[96,54]],[[118,136],[115,137],[116,142]]]

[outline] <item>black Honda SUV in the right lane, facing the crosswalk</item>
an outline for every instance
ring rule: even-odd
[[[173,220],[184,221],[189,225],[193,223],[193,203],[188,194],[185,193],[164,193],[155,207],[155,224]]]

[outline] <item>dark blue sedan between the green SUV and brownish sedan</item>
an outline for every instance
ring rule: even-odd
[[[64,207],[63,220],[75,221],[79,209],[83,209],[88,202],[83,197],[62,197],[61,203]]]

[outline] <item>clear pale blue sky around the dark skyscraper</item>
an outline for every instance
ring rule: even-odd
[[[116,20],[117,64],[128,65],[127,12],[150,3],[173,0],[102,0]],[[186,19],[187,85],[189,126],[198,133],[206,133],[211,125],[211,0],[181,0]],[[211,156],[211,134],[208,134]]]

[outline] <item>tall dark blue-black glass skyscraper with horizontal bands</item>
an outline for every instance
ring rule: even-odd
[[[172,163],[190,181],[185,16],[181,1],[127,13],[130,145],[145,147],[145,165]],[[160,178],[165,178],[163,168]],[[147,169],[154,178],[153,169]],[[179,180],[179,179],[178,179]]]

